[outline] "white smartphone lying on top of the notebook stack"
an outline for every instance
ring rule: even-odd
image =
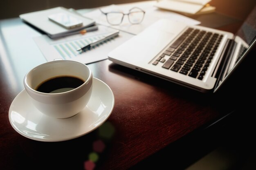
[[[62,12],[49,15],[48,18],[52,22],[59,24],[66,29],[72,29],[83,25],[82,20]]]

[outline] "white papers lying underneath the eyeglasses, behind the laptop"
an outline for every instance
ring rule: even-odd
[[[120,25],[110,25],[107,22],[106,15],[101,13],[99,9],[95,9],[94,11],[84,13],[83,15],[88,18],[93,18],[96,23],[102,24],[105,26],[110,26],[112,28],[118,29],[120,31],[126,31],[128,33],[132,33],[134,35],[137,35],[144,29],[146,29],[148,26],[153,24],[154,22],[166,18],[178,22],[184,22],[189,25],[197,25],[200,24],[199,21],[193,20],[191,18],[185,17],[184,15],[180,15],[178,13],[170,12],[170,11],[163,11],[159,10],[157,7],[154,7],[154,4],[156,4],[156,1],[146,1],[146,2],[136,2],[136,3],[130,3],[130,4],[119,4],[119,5],[110,5],[106,7],[102,7],[101,10],[105,13],[111,12],[111,11],[121,11],[124,13],[129,13],[129,10],[133,7],[139,7],[142,10],[146,11],[144,20],[140,24],[131,24],[128,20],[128,16],[125,15],[123,22]]]

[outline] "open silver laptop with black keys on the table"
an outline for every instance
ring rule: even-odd
[[[255,21],[245,21],[234,35],[159,20],[111,51],[108,58],[197,91],[216,92],[255,44]]]

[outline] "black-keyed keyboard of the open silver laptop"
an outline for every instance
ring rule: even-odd
[[[202,80],[223,35],[188,28],[153,65]],[[168,56],[166,60],[165,56]]]

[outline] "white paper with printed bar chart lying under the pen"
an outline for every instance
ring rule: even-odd
[[[113,31],[116,30],[106,26],[99,26],[97,31],[88,32],[85,35],[77,34],[59,39],[51,39],[47,35],[42,35],[35,37],[34,41],[47,61],[62,59],[88,64],[107,59],[110,51],[133,36],[129,33],[120,32],[118,37],[106,40],[91,49],[85,50],[83,53],[76,51],[78,48],[99,40]]]

